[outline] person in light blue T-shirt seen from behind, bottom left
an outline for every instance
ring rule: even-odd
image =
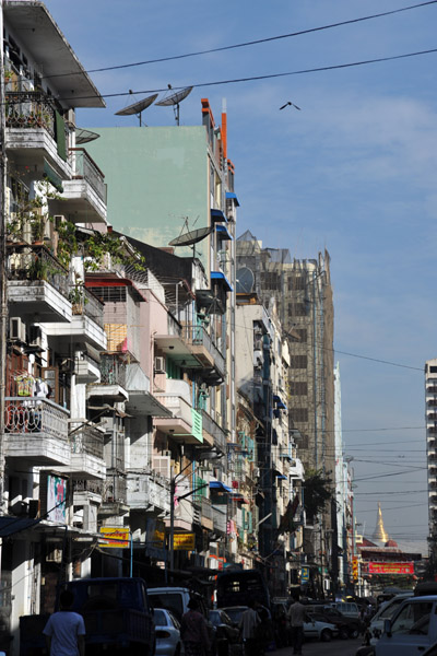
[[[71,609],[74,595],[62,590],[59,611],[49,617],[44,628],[49,656],[85,656],[85,623],[83,617]]]

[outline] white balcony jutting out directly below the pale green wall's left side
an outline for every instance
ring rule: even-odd
[[[62,183],[62,200],[54,201],[52,207],[73,223],[106,223],[104,174],[83,148],[70,149],[69,161],[73,177]]]

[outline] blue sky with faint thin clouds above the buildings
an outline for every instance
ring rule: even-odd
[[[48,0],[87,69],[218,48],[406,7],[404,0]],[[411,0],[411,4],[414,4]],[[437,4],[200,57],[93,73],[103,94],[153,91],[390,57],[436,47]],[[357,519],[426,549],[425,360],[437,355],[437,54],[317,73],[194,89],[181,125],[201,121],[208,97],[227,103],[228,156],[240,201],[238,233],[292,256],[328,248],[346,453],[354,457]],[[142,97],[141,93],[134,99]],[[302,107],[280,112],[293,101]],[[138,125],[81,110],[86,127]],[[172,125],[169,108],[144,113]],[[387,473],[402,475],[382,478]],[[371,478],[368,477],[381,477]],[[368,480],[364,480],[368,479]]]

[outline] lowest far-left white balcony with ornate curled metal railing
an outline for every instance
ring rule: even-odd
[[[70,465],[69,414],[49,399],[7,397],[5,456],[26,460],[32,467]]]

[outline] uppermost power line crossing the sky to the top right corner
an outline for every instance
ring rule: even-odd
[[[102,68],[96,68],[96,69],[90,69],[87,71],[84,71],[84,73],[101,73],[104,71],[115,71],[115,70],[120,70],[120,69],[127,69],[127,68],[134,68],[134,67],[139,67],[139,66],[146,66],[150,63],[162,63],[164,61],[175,61],[178,59],[187,59],[189,57],[199,57],[201,55],[212,55],[213,52],[223,52],[226,50],[234,50],[237,48],[245,48],[248,46],[256,46],[256,45],[260,45],[260,44],[265,44],[265,43],[270,43],[270,42],[274,42],[274,40],[280,40],[280,39],[285,39],[285,38],[292,38],[295,36],[303,36],[305,34],[312,34],[315,32],[322,32],[324,30],[332,30],[334,27],[342,27],[344,25],[353,25],[354,23],[362,23],[364,21],[370,21],[370,20],[375,20],[375,19],[380,19],[380,17],[385,17],[385,16],[390,16],[397,13],[401,13],[401,12],[405,12],[405,11],[411,11],[413,9],[420,9],[422,7],[426,7],[429,4],[436,4],[437,0],[429,0],[428,2],[421,2],[418,4],[411,4],[409,7],[402,7],[400,9],[393,9],[391,11],[385,11],[381,13],[377,13],[377,14],[370,14],[367,16],[362,16],[358,19],[350,19],[349,21],[341,21],[338,23],[330,23],[328,25],[321,25],[319,27],[310,27],[308,30],[302,30],[299,32],[291,32],[287,34],[280,34],[277,36],[269,36],[265,38],[259,38],[259,39],[253,39],[253,40],[249,40],[249,42],[244,42],[240,44],[233,44],[229,46],[221,46],[218,48],[209,48],[206,50],[197,50],[194,52],[186,52],[182,55],[173,55],[169,57],[160,57],[157,59],[147,59],[144,61],[135,61],[132,63],[121,63],[121,65],[117,65],[117,66],[108,66],[108,67],[102,67]],[[78,73],[73,73],[73,74],[84,74],[82,72],[78,72]],[[43,79],[52,79],[52,78],[61,78],[64,75],[71,75],[72,73],[58,73],[56,75],[45,75]]]

